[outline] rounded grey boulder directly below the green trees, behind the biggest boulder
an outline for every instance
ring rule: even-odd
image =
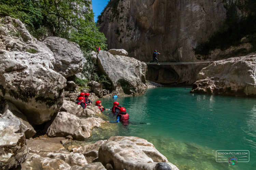
[[[86,59],[83,57],[79,45],[59,37],[47,37],[43,43],[54,54],[54,69],[65,78],[83,70]]]

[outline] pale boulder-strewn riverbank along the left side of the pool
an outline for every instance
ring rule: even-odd
[[[90,92],[91,99],[142,95],[147,88],[145,63],[126,57],[123,50],[100,51],[94,54],[96,64],[112,89],[90,82],[90,89],[78,90],[67,82],[86,63],[77,44],[58,37],[38,41],[18,19],[0,21],[0,170],[177,170],[152,143],[137,137],[64,147],[106,125],[97,106],[83,109],[74,103],[79,93]]]

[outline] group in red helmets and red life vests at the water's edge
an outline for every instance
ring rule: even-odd
[[[85,109],[86,106],[88,106],[88,105],[92,105],[93,102],[88,98],[89,95],[90,95],[89,93],[84,93],[84,92],[80,93],[80,95],[77,96],[76,104],[81,105],[83,107],[83,109]],[[105,110],[106,111],[109,110],[102,106],[100,100],[96,101],[95,105],[98,106],[98,108],[100,109],[101,112],[103,112]],[[117,116],[116,116],[116,121],[110,122],[110,123],[126,122],[129,120],[129,114],[126,113],[126,109],[122,106],[119,106],[118,102],[113,103],[113,107],[112,107],[111,111],[113,114],[117,114]]]

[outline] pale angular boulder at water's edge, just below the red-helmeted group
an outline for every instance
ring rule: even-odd
[[[100,118],[79,119],[67,112],[59,112],[47,130],[49,137],[66,137],[83,140],[91,136],[91,129],[105,122]]]

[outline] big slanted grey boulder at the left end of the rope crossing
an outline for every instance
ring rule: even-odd
[[[146,91],[147,66],[134,58],[113,56],[102,51],[97,54],[97,66],[112,84],[112,95],[142,95]]]

